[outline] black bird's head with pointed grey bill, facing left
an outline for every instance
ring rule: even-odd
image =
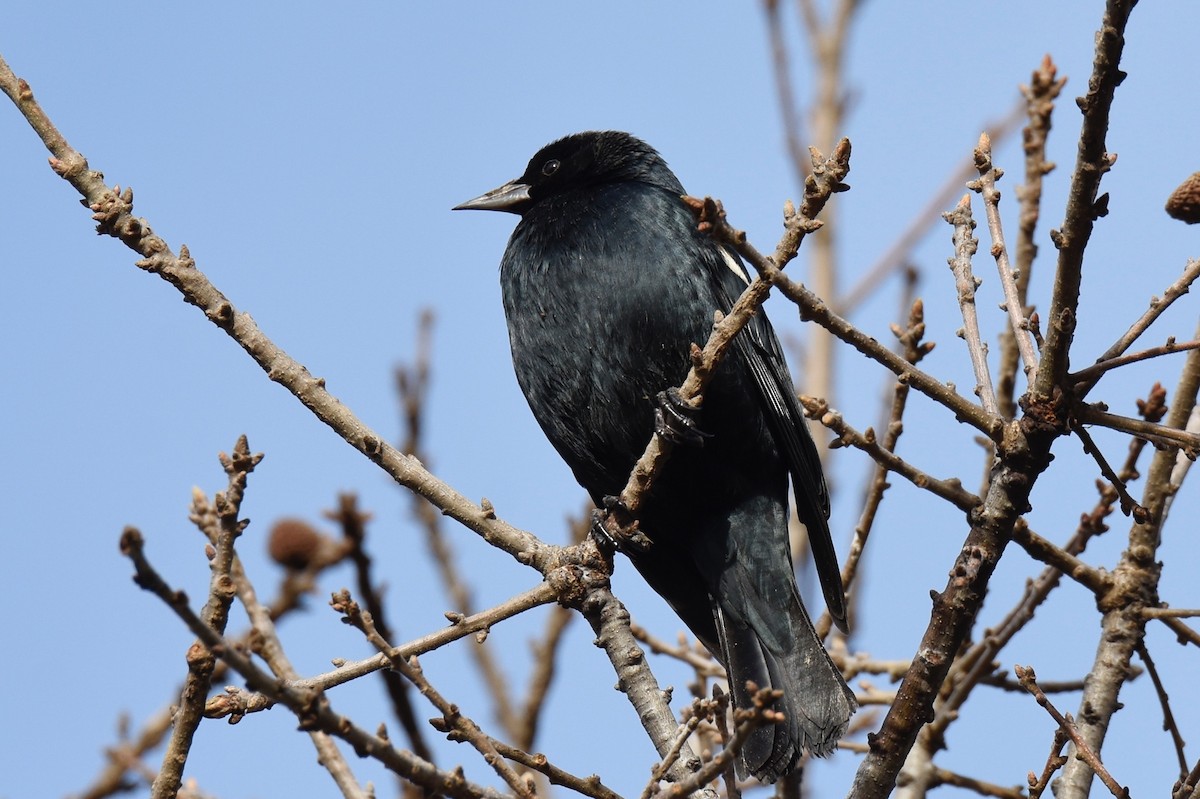
[[[454,210],[523,215],[550,197],[624,181],[684,193],[666,161],[646,142],[620,131],[587,131],[547,144],[529,160],[523,175]]]

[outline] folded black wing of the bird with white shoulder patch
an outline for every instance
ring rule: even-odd
[[[710,274],[721,311],[728,311],[749,286],[750,276],[736,253],[715,245],[709,259]],[[758,389],[763,415],[787,462],[796,494],[797,513],[809,533],[809,546],[821,590],[834,623],[846,630],[846,596],[841,588],[841,570],[829,533],[829,489],[821,470],[821,458],[809,432],[804,411],[796,398],[787,361],[770,322],[757,313],[734,340],[737,358],[750,371]]]

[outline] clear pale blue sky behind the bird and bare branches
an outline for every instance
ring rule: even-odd
[[[853,95],[845,133],[854,156],[853,191],[841,198],[844,284],[908,224],[970,154],[983,124],[1010,107],[1016,84],[1045,53],[1070,78],[1051,138],[1061,168],[1050,178],[1039,229],[1043,254],[1052,256],[1046,230],[1062,220],[1079,130],[1073,98],[1086,85],[1100,6],[866,5],[848,59]],[[1104,184],[1111,215],[1088,251],[1076,350],[1082,362],[1200,251],[1200,230],[1162,211],[1170,191],[1200,169],[1200,98],[1194,70],[1182,66],[1198,28],[1194,2],[1145,2],[1134,11],[1123,64],[1129,78],[1109,137],[1120,154]],[[752,4],[92,4],[52,17],[44,4],[16,0],[5,11],[0,53],[92,167],[110,182],[133,186],[138,214],[173,246],[188,245],[240,310],[390,438],[398,434],[391,368],[413,350],[419,310],[434,308],[431,465],[464,494],[488,497],[508,521],[552,541],[562,540],[563,519],[583,495],[542,440],[511,376],[497,264],[515,218],[449,209],[520,174],[546,142],[586,128],[646,138],[689,191],[720,197],[760,248],[774,246],[781,204],[799,193],[782,145],[764,20]],[[804,88],[811,76],[799,49],[793,61]],[[803,102],[809,92],[802,94]],[[1016,139],[996,154],[1009,173],[1002,188],[1010,239],[1020,158]],[[0,627],[0,717],[7,727],[0,798],[80,791],[101,768],[119,714],[128,713],[136,728],[170,699],[191,636],[132,584],[118,536],[125,524],[140,527],[162,572],[199,601],[208,569],[186,517],[191,488],[223,487],[216,453],[240,433],[266,452],[251,479],[245,512],[253,524],[241,549],[262,591],[276,577],[263,554],[271,521],[317,521],[337,492],[355,491],[374,513],[371,547],[386,575],[394,625],[413,637],[444,624],[449,602],[407,517],[408,498],[266,380],[174,289],[136,269],[124,246],[98,239],[8,103],[0,108],[0,352],[8,385],[0,422],[0,584],[8,597]],[[938,343],[928,368],[966,390],[970,366],[953,335],[961,322],[944,268],[949,238],[940,223],[914,257],[924,269],[930,337]],[[995,330],[998,294],[982,238],[980,313]],[[1034,274],[1043,308],[1049,266],[1044,257]],[[794,269],[803,276],[802,263]],[[854,320],[889,338],[895,305],[886,290]],[[788,306],[769,307],[776,326],[803,335]],[[1147,346],[1168,335],[1189,338],[1195,323],[1196,305],[1186,299]],[[851,354],[840,367],[839,407],[860,428],[875,423],[887,377]],[[1128,370],[1093,398],[1129,414],[1154,379],[1174,379],[1177,370],[1177,360]],[[960,474],[973,488],[983,467],[970,431],[928,402],[913,405],[902,453],[936,475]],[[1122,438],[1098,433],[1098,440],[1114,459],[1123,456]],[[1064,440],[1056,450],[1073,464],[1074,485],[1039,486],[1033,495],[1031,521],[1055,540],[1094,501],[1094,467],[1078,449]],[[858,453],[834,453],[841,541],[853,528],[868,468]],[[853,642],[882,659],[912,653],[928,619],[929,589],[943,587],[965,533],[959,513],[893,482]],[[1200,605],[1193,567],[1200,552],[1188,521],[1198,510],[1194,487],[1186,487],[1162,551],[1163,595],[1175,606]],[[1112,533],[1094,545],[1096,563],[1114,563],[1124,533],[1124,519],[1115,518]],[[450,534],[480,607],[534,583],[534,572],[474,534]],[[1013,548],[994,579],[986,620],[1001,618],[1033,572]],[[346,571],[331,575],[322,596],[349,579]],[[628,564],[616,585],[636,619],[668,637],[678,629]],[[331,657],[367,651],[322,596],[308,618],[283,625],[306,674],[324,671]],[[1078,623],[1063,626],[1063,618]],[[1082,677],[1097,618],[1090,597],[1066,585],[1004,653],[1004,666],[1033,665],[1045,679]],[[540,619],[502,625],[491,637],[521,686]],[[565,643],[539,747],[564,768],[596,770],[636,795],[654,753],[628,703],[611,690],[614,678],[584,626],[577,623]],[[1188,725],[1184,738],[1200,740],[1195,714],[1187,711],[1200,702],[1194,653],[1162,629],[1153,629],[1150,643],[1177,719]],[[682,697],[689,675],[668,662],[654,665]],[[427,669],[466,713],[494,729],[461,647],[431,656]],[[368,728],[386,717],[374,683],[338,689],[331,698]],[[1109,735],[1105,759],[1135,795],[1162,792],[1174,756],[1148,680],[1123,698],[1128,709]],[[1072,711],[1076,703],[1073,696],[1061,701]],[[430,715],[419,709],[420,717]],[[294,726],[282,710],[238,727],[204,725],[190,774],[222,799],[336,795]],[[1022,783],[1045,762],[1051,732],[1027,697],[986,697],[952,728],[942,762],[1001,785]],[[1196,753],[1193,746],[1189,756]],[[464,746],[439,741],[438,757],[466,762],[470,776],[493,781]],[[844,792],[856,764],[842,753],[812,767],[814,795]],[[378,768],[356,758],[352,765],[389,795],[392,783]]]

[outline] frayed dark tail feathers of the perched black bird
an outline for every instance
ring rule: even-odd
[[[858,705],[817,638],[791,570],[780,585],[772,584],[779,575],[773,581],[751,572],[734,563],[722,575],[714,617],[734,708],[752,704],[746,680],[782,691],[775,709],[785,720],[758,727],[742,749],[745,770],[774,782],[804,751],[833,752]]]

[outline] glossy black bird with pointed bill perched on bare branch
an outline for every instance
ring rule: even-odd
[[[734,340],[695,419],[662,394],[683,383],[714,311],[749,283],[740,259],[697,230],[683,194],[644,142],[587,132],[546,145],[521,178],[457,209],[521,216],[500,262],[512,365],[592,498],[620,492],[656,428],[691,444],[676,447],[641,510],[650,546],[626,554],[725,665],[734,705],[750,703],[746,680],[782,691],[786,721],[758,728],[742,751],[773,782],[803,751],[832,752],[857,707],[796,587],[788,475],[842,630],[845,596],[821,463],[766,314]]]

